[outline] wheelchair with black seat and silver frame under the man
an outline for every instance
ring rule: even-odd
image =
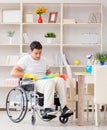
[[[24,84],[23,84],[24,82]],[[38,115],[43,121],[50,121],[56,117],[56,115],[49,115],[47,118],[43,118],[43,94],[36,91],[35,82],[32,79],[21,79],[20,85],[12,88],[6,98],[6,112],[8,117],[14,123],[21,122],[27,111],[32,111],[31,123],[36,122],[36,115]],[[55,94],[54,97],[55,109],[58,110],[60,106],[59,98]],[[59,116],[61,123],[67,123],[69,116]]]

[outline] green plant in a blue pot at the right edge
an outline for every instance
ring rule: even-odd
[[[106,59],[107,59],[107,53],[105,52],[97,52],[95,54],[95,60],[100,62],[100,65],[104,65]]]

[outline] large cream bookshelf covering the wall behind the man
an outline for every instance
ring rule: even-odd
[[[43,23],[37,22],[35,9],[38,7],[47,8],[42,15]],[[12,14],[17,10],[19,19],[4,22],[4,10],[12,10]],[[50,12],[57,12],[55,23],[48,22]],[[0,2],[0,88],[11,88],[5,84],[11,78],[10,71],[18,58],[30,52],[29,44],[33,40],[42,43],[43,55],[49,59],[53,72],[65,73],[62,54],[73,71],[84,70],[86,55],[102,50],[102,14],[101,2]],[[8,31],[15,31],[12,44],[9,44]],[[56,34],[54,43],[46,42],[47,32]],[[81,65],[74,65],[76,59]]]

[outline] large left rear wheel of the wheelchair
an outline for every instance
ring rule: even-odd
[[[27,95],[23,88],[15,87],[9,91],[6,99],[6,112],[10,120],[20,122],[28,109]]]

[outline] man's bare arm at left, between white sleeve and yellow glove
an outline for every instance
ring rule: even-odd
[[[12,71],[11,71],[11,76],[16,77],[16,78],[22,78],[24,75],[23,69],[19,66],[14,66]]]

